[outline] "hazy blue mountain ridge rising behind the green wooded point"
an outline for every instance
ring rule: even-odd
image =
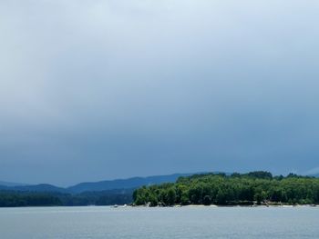
[[[136,188],[142,185],[174,183],[180,176],[189,176],[191,174],[170,174],[149,177],[132,177],[129,179],[117,179],[109,181],[101,181],[96,183],[82,183],[70,186],[67,191],[73,194],[92,191],[106,191],[112,189]]]

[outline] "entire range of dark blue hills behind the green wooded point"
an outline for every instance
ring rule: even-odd
[[[0,207],[40,205],[109,205],[132,203],[133,191],[142,185],[176,182],[180,176],[170,174],[82,183],[68,188],[51,184],[0,184]]]

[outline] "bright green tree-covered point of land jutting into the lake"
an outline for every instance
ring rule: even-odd
[[[196,174],[174,184],[141,187],[134,204],[319,204],[319,178],[268,172]]]

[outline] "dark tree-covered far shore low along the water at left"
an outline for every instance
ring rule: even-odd
[[[130,204],[133,189],[61,194],[57,192],[0,191],[0,207],[50,205]]]

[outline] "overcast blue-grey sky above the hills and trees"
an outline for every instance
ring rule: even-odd
[[[0,0],[0,180],[319,173],[316,0]]]

